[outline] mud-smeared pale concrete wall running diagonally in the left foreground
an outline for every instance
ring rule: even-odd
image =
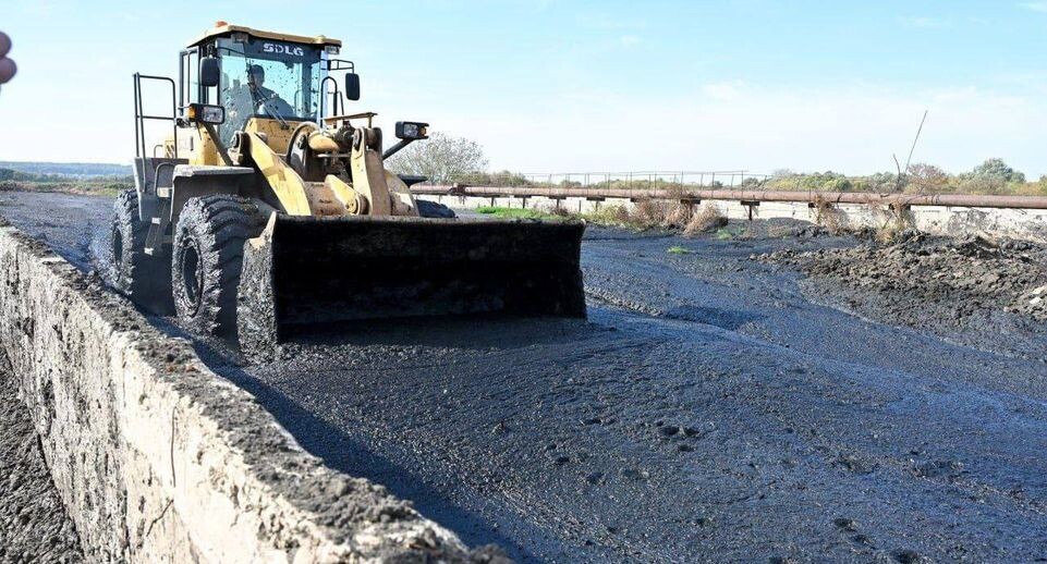
[[[322,466],[187,343],[2,225],[0,285],[0,354],[89,560],[477,557],[384,488]]]

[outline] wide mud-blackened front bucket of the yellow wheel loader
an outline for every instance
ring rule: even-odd
[[[244,245],[241,347],[317,324],[503,314],[585,317],[580,221],[272,214]]]

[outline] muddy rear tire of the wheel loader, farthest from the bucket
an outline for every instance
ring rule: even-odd
[[[145,254],[149,223],[138,218],[138,195],[125,189],[113,204],[106,280],[136,304],[170,311],[171,270],[162,257]]]

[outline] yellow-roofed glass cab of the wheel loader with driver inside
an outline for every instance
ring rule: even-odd
[[[219,22],[181,53],[179,107],[222,106],[226,120],[218,126],[222,143],[231,143],[238,131],[257,131],[283,152],[287,146],[281,143],[297,124],[319,123],[344,109],[338,83],[329,77],[330,71],[353,70],[352,63],[332,58],[340,48],[341,41],[324,36]],[[217,84],[208,81],[209,74]]]

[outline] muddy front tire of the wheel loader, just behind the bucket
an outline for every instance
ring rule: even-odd
[[[174,309],[182,323],[203,334],[235,334],[244,242],[264,226],[263,213],[246,198],[214,195],[185,203],[171,259]]]

